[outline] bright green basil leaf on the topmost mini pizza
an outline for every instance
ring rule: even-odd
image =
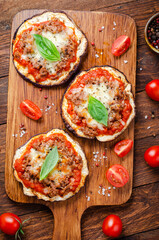
[[[51,62],[61,60],[60,53],[53,42],[39,34],[33,34],[33,37],[35,39],[37,49],[43,58]]]

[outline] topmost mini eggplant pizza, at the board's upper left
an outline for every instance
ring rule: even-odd
[[[25,20],[14,34],[13,62],[37,86],[60,85],[75,72],[87,39],[64,12],[44,12]]]

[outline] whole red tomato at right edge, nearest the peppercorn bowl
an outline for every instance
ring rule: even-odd
[[[154,79],[145,87],[147,95],[155,101],[159,101],[159,79]]]

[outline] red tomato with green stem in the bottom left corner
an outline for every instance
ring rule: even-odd
[[[2,232],[8,235],[15,235],[20,229],[20,224],[17,220],[22,223],[21,219],[13,213],[3,213],[0,216],[0,229]]]

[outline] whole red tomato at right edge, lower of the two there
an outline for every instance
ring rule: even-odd
[[[151,167],[159,167],[159,146],[148,148],[144,154],[144,159]]]

